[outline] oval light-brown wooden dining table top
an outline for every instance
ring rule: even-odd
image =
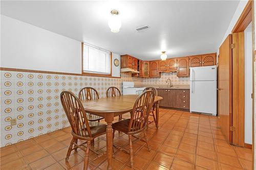
[[[89,113],[120,113],[130,112],[138,98],[138,94],[121,95],[113,98],[101,98],[92,101],[82,101],[84,110]],[[155,102],[162,100],[161,96],[155,96]]]

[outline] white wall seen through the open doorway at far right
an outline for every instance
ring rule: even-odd
[[[252,26],[244,31],[245,45],[245,143],[252,144]]]

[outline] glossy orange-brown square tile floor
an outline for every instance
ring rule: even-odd
[[[134,169],[252,169],[251,150],[234,147],[217,128],[217,117],[160,109],[160,128],[150,125],[145,143],[134,143]],[[70,128],[1,148],[1,169],[82,169],[84,152],[72,152],[65,162],[71,141]],[[124,146],[127,135],[116,133],[114,143]],[[128,147],[126,147],[128,149]],[[105,137],[95,140],[95,150],[105,151]],[[90,169],[106,169],[106,156],[90,154]],[[130,155],[115,153],[114,169],[131,169]]]

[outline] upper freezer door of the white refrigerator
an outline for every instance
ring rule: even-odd
[[[217,80],[217,67],[190,67],[190,81],[212,81]]]

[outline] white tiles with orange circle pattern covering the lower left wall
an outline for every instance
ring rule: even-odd
[[[121,74],[121,79],[1,71],[1,147],[69,126],[59,94],[70,90],[78,95],[85,86],[97,89],[100,98],[110,86],[122,91],[123,81],[141,78]],[[10,120],[17,119],[11,126]]]

